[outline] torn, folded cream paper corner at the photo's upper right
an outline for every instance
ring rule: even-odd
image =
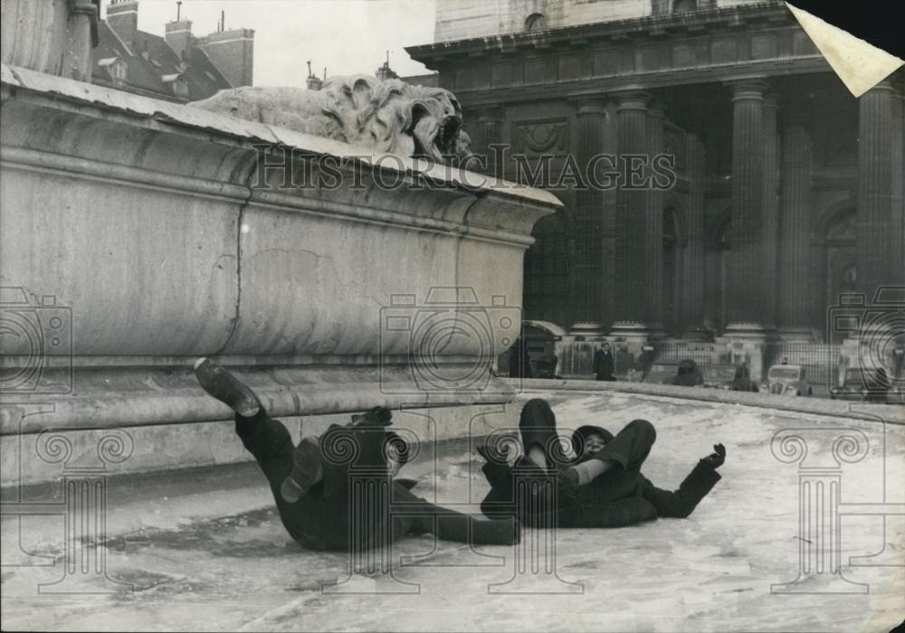
[[[827,24],[819,17],[789,3],[786,6],[855,97],[861,97],[905,65],[905,61],[864,42],[852,33]]]

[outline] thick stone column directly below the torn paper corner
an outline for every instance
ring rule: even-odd
[[[896,179],[901,177],[901,114],[891,83],[881,81],[859,103],[858,286],[868,300],[881,285],[900,279],[894,270],[901,249],[901,208]],[[897,146],[898,145],[898,146]],[[899,204],[901,206],[901,204]],[[898,234],[897,234],[898,233]]]

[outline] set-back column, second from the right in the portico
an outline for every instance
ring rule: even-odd
[[[801,122],[783,134],[783,200],[779,229],[779,326],[783,339],[810,340],[811,138]]]

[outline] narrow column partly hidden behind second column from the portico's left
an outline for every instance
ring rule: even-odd
[[[647,112],[647,156],[663,152],[663,123],[666,106],[658,101],[651,103]],[[643,320],[648,335],[662,335],[663,330],[663,193],[651,185],[646,192],[644,213],[644,298]]]

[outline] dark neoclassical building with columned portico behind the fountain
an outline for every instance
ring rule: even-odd
[[[557,189],[566,211],[525,260],[528,319],[833,342],[840,293],[905,281],[903,73],[855,99],[784,3],[439,2],[434,39],[407,51],[479,149],[552,156],[554,173],[568,156],[675,156],[668,191]]]

